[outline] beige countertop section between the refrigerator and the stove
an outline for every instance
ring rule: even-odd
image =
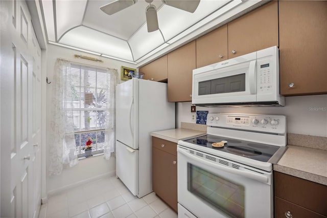
[[[151,133],[151,136],[176,143],[179,140],[192,139],[203,135],[206,135],[206,132],[187,128],[174,128]]]

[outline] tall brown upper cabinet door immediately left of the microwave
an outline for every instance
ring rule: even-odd
[[[168,101],[192,100],[192,73],[196,68],[195,41],[168,54]]]

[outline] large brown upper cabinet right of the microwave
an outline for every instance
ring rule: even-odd
[[[326,57],[327,2],[279,1],[281,94],[327,93]]]

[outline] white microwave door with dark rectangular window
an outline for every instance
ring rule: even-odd
[[[256,53],[193,70],[192,103],[256,101]]]

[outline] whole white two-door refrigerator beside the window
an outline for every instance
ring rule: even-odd
[[[152,192],[150,133],[175,128],[167,84],[132,78],[116,85],[116,176],[138,198]]]

